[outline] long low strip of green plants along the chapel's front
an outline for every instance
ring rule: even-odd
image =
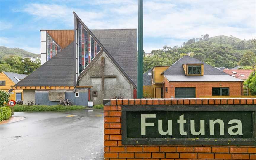
[[[40,111],[68,111],[68,110],[81,110],[83,106],[63,106],[63,105],[15,105],[15,112],[40,112]]]

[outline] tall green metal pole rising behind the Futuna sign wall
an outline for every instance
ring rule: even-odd
[[[138,98],[143,98],[143,0],[139,0]]]

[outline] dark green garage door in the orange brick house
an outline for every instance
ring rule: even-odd
[[[196,88],[175,88],[175,98],[196,98]]]

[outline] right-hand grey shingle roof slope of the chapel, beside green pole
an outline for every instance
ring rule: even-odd
[[[137,30],[91,30],[137,86]]]

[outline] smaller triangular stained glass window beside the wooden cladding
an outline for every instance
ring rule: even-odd
[[[47,34],[47,61],[61,51],[57,43]]]

